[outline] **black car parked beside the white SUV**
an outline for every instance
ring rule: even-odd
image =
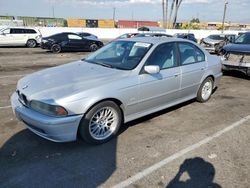
[[[103,43],[99,40],[87,39],[76,33],[59,33],[42,38],[41,48],[54,53],[61,51],[96,51]]]

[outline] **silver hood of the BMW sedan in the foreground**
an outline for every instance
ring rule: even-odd
[[[130,71],[77,61],[30,74],[19,80],[17,89],[28,100],[56,101],[103,86],[129,73]]]

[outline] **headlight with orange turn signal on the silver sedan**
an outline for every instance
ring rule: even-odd
[[[66,116],[68,112],[62,106],[50,105],[40,101],[31,101],[30,107],[42,114],[51,116]]]

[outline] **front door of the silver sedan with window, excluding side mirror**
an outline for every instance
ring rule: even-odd
[[[179,98],[180,67],[175,43],[164,43],[155,48],[145,65],[158,65],[160,72],[139,75],[140,111],[161,108]]]

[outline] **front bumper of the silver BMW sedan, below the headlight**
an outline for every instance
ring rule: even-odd
[[[24,122],[35,134],[54,142],[69,142],[77,139],[77,130],[83,115],[51,117],[38,113],[11,96],[11,105],[17,119]]]

